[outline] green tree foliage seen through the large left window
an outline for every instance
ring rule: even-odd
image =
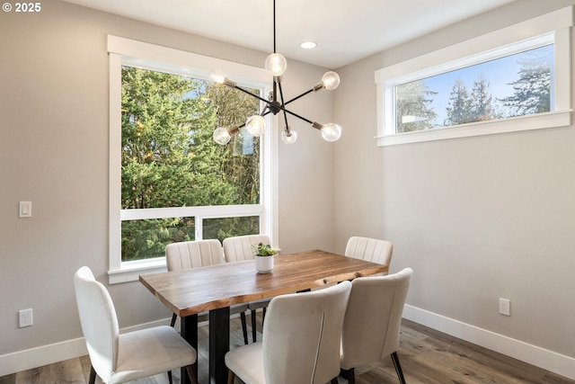
[[[255,99],[198,79],[123,67],[121,100],[122,209],[259,202],[258,140],[235,135],[222,147],[212,139],[217,126],[257,112]],[[218,237],[253,228],[253,219],[228,220]],[[194,239],[194,222],[122,221],[121,237],[123,261],[158,257],[166,244]]]

